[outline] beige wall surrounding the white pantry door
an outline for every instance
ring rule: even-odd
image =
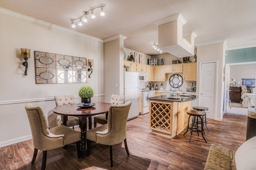
[[[215,107],[215,118],[216,120],[222,119],[222,113],[223,113],[223,66],[225,60],[223,60],[224,55],[224,47],[223,43],[218,44],[211,44],[211,45],[205,45],[205,46],[199,46],[197,47],[197,94],[199,93],[199,66],[202,62],[215,62],[217,61],[217,80],[216,80],[216,86],[217,91],[215,92],[215,97],[217,101],[217,105]]]

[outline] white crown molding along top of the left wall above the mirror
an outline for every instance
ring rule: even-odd
[[[33,23],[36,23],[36,24],[39,24],[39,25],[43,25],[45,27],[49,27],[49,28],[52,28],[52,29],[55,29],[55,30],[67,32],[67,33],[70,33],[72,35],[76,35],[76,36],[83,37],[83,38],[88,38],[88,39],[103,43],[103,40],[100,39],[100,38],[92,37],[92,36],[86,35],[86,34],[81,33],[81,32],[77,32],[77,31],[74,31],[74,30],[70,30],[70,29],[61,27],[59,25],[55,25],[55,24],[52,24],[52,23],[49,23],[49,22],[38,20],[38,19],[32,18],[32,17],[27,16],[27,15],[23,15],[23,14],[20,14],[20,13],[11,11],[11,10],[7,10],[5,8],[2,8],[2,7],[0,7],[0,13],[5,14],[5,15],[9,15],[9,16],[13,16],[13,17],[21,19],[21,20],[25,20],[25,21],[33,22]]]

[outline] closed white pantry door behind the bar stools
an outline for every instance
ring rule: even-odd
[[[214,118],[215,114],[215,87],[216,63],[202,63],[200,73],[199,106],[208,107],[207,118]]]

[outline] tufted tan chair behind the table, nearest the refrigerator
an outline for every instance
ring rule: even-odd
[[[114,105],[124,104],[125,96],[111,95],[110,103]],[[99,124],[107,124],[108,121],[106,119],[106,114],[97,115],[93,117],[94,120],[94,128],[96,128],[97,123]]]

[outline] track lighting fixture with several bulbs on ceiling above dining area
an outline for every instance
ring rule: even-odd
[[[94,7],[90,8],[90,10],[88,10],[88,11],[83,11],[83,15],[81,15],[81,16],[79,16],[79,17],[77,17],[77,18],[71,18],[71,19],[70,19],[70,21],[71,21],[71,27],[72,27],[72,28],[75,28],[75,27],[76,27],[76,25],[75,25],[75,23],[74,23],[74,21],[76,21],[76,20],[79,20],[78,25],[82,26],[82,25],[83,25],[83,23],[81,22],[81,21],[82,21],[82,18],[85,16],[84,19],[83,19],[83,21],[84,21],[84,22],[87,22],[87,15],[90,15],[90,13],[91,13],[91,18],[94,19],[96,16],[94,15],[93,10],[95,10],[95,9],[97,9],[97,8],[101,8],[101,13],[100,13],[100,15],[101,15],[101,16],[105,16],[105,12],[103,11],[103,7],[104,7],[104,6],[106,6],[106,5],[104,4],[104,5],[97,5],[97,6],[94,6]]]

